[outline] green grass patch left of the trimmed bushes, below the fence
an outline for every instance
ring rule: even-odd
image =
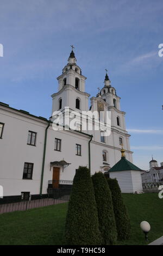
[[[61,245],[67,203],[0,215],[0,245]]]

